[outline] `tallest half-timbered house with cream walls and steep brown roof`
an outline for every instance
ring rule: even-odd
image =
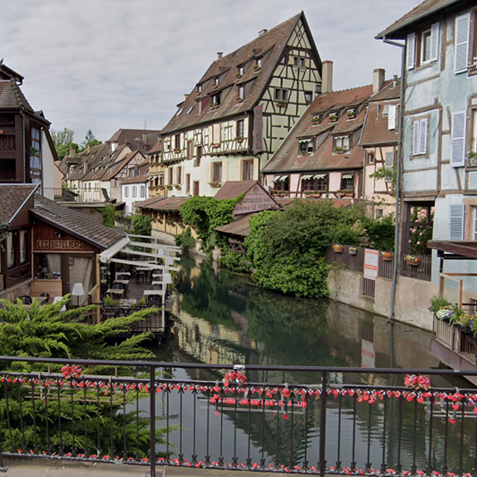
[[[321,61],[304,14],[209,66],[161,133],[165,188],[215,195],[260,169],[310,104]]]

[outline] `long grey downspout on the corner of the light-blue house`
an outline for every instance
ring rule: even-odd
[[[401,98],[399,111],[399,139],[397,140],[397,167],[396,167],[396,226],[394,235],[394,268],[393,268],[393,285],[391,289],[391,305],[389,307],[388,320],[394,319],[394,311],[396,306],[396,287],[397,287],[397,268],[399,265],[399,202],[401,200],[401,162],[403,153],[403,136],[405,124],[405,54],[406,44],[398,43],[384,37],[384,43],[402,48],[401,55]]]

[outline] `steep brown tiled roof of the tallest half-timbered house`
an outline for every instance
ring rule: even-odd
[[[178,106],[179,111],[182,112],[175,113],[161,134],[169,134],[190,128],[195,124],[209,123],[222,117],[251,111],[261,98],[264,89],[268,87],[270,75],[283,56],[288,38],[301,18],[305,27],[308,28],[304,14],[300,13],[210,64],[198,83],[202,85],[202,92],[198,94],[197,88],[192,89],[191,94]],[[251,60],[259,57],[262,57],[262,66],[260,71],[256,72],[255,63]],[[319,56],[316,61],[321,71]],[[245,65],[243,78],[237,78],[238,66],[241,65]],[[217,76],[220,82],[215,88],[213,79]],[[237,102],[238,85],[245,83],[247,83],[247,94],[243,102],[239,103]],[[210,95],[216,92],[221,92],[220,107],[209,110]],[[202,101],[200,115],[197,110],[198,99]]]

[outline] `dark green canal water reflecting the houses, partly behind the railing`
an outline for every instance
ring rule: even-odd
[[[430,353],[430,333],[330,300],[300,299],[277,294],[217,268],[208,260],[184,256],[180,262],[176,312],[172,336],[156,350],[163,362],[214,364],[342,366],[362,368],[438,368]],[[170,370],[175,379],[221,380],[217,371]],[[277,371],[247,372],[251,382],[318,384],[311,373]],[[377,385],[403,385],[402,376],[331,373],[330,381]],[[434,387],[469,386],[433,379]],[[278,458],[285,464],[316,465],[319,448],[319,403],[307,409],[254,410],[210,405],[207,396],[184,393],[164,397],[158,415],[176,425],[169,441],[184,458],[196,454],[211,460],[224,456],[232,462],[267,464]],[[473,468],[475,420],[449,425],[448,415],[430,407],[390,399],[381,404],[356,404],[345,397],[328,401],[328,465],[356,463],[379,469],[397,461],[404,468],[414,463],[425,470],[428,462],[441,470],[456,468],[462,459]],[[353,406],[354,409],[353,409]],[[436,408],[437,409],[437,408]],[[440,414],[439,414],[440,413]],[[439,417],[440,415],[440,417]],[[285,416],[285,417],[284,417]],[[437,417],[436,417],[437,416]],[[456,416],[454,416],[456,418]],[[283,419],[282,419],[283,418]],[[457,419],[457,418],[456,418]],[[209,428],[209,439],[204,430]],[[414,432],[414,429],[416,430]],[[402,430],[401,432],[399,430]],[[399,439],[397,436],[403,437]],[[430,439],[430,435],[432,436]],[[430,442],[431,441],[431,442]],[[464,452],[461,456],[461,442]],[[164,450],[164,449],[162,449]]]

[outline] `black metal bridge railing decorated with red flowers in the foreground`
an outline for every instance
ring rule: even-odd
[[[475,389],[443,388],[477,371],[0,362],[0,456],[141,464],[152,477],[158,465],[322,477],[477,473]],[[405,386],[405,375],[419,379]]]

